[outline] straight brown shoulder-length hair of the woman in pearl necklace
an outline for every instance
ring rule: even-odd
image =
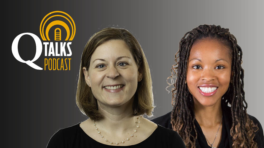
[[[133,112],[135,116],[146,114],[151,117],[154,102],[148,62],[136,38],[128,30],[122,28],[109,27],[102,29],[95,33],[84,47],[76,92],[77,106],[83,114],[95,121],[103,118],[103,115],[98,111],[97,100],[92,94],[91,88],[85,82],[82,68],[86,67],[88,70],[93,52],[99,45],[109,40],[123,40],[128,45],[139,71],[143,76],[142,80],[138,82],[138,87],[135,92]]]

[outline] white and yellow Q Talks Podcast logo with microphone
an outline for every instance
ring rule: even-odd
[[[70,56],[72,56],[72,51],[70,45],[74,36],[75,36],[75,23],[70,15],[62,11],[53,11],[48,13],[41,21],[40,27],[40,36],[43,41],[50,41],[54,37],[55,42],[41,42],[40,38],[32,33],[22,33],[13,40],[12,43],[12,53],[17,61],[26,63],[30,67],[43,70],[43,68],[37,66],[35,62],[41,55],[42,44],[45,48],[45,57],[67,57],[67,58],[44,58],[44,70],[70,70]],[[65,34],[66,33],[66,34]],[[51,35],[52,36],[49,36]],[[18,42],[23,35],[30,35],[36,43],[36,54],[32,60],[25,61],[23,60],[18,53]],[[63,38],[66,42],[56,42],[61,41]],[[55,44],[55,48],[54,48]],[[60,45],[58,48],[58,45]],[[48,48],[49,47],[49,48]],[[67,50],[66,50],[66,49]],[[49,50],[48,50],[49,49]],[[59,52],[60,50],[60,52]],[[67,52],[67,53],[66,53]]]

